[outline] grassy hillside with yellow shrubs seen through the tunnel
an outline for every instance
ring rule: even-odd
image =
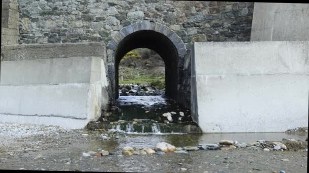
[[[119,64],[119,84],[151,82],[160,89],[165,88],[165,65],[161,57],[149,49],[128,52]]]

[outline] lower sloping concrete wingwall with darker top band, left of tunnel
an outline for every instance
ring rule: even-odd
[[[108,105],[105,52],[102,43],[5,46],[0,122],[83,128],[97,120]]]

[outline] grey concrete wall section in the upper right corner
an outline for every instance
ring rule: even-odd
[[[251,41],[309,40],[309,4],[254,3]]]

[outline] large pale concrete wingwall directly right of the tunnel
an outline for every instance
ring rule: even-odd
[[[307,126],[309,41],[195,42],[191,84],[204,133]]]

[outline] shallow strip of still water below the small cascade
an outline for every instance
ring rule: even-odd
[[[100,145],[108,144],[111,150],[121,150],[125,146],[137,148],[154,148],[158,142],[167,142],[176,147],[198,145],[201,143],[218,143],[220,140],[238,142],[256,142],[257,140],[281,141],[283,138],[304,141],[307,136],[288,135],[285,133],[235,133],[235,134],[129,134],[126,138],[111,140]],[[97,143],[98,144],[98,143]],[[113,148],[113,147],[114,148]]]

